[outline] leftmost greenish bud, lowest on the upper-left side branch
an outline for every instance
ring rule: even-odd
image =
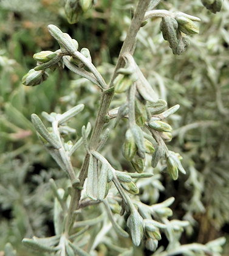
[[[41,84],[49,76],[43,70],[36,71],[35,69],[30,69],[30,71],[22,77],[22,84],[26,86],[35,86]]]

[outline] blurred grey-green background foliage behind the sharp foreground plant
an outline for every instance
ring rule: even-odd
[[[30,115],[61,113],[84,103],[83,113],[70,123],[80,132],[87,121],[94,124],[97,113],[98,89],[70,71],[56,69],[38,87],[21,84],[22,76],[35,66],[33,54],[58,49],[47,25],[59,26],[77,39],[80,48],[89,48],[95,66],[109,80],[135,2],[99,0],[77,24],[70,25],[64,1],[0,1],[0,250],[10,242],[18,255],[35,255],[21,240],[53,235],[53,194],[48,182],[52,177],[60,187],[67,185],[65,174],[39,143]],[[215,15],[200,0],[161,1],[158,9],[179,10],[202,20],[200,34],[191,37],[190,47],[182,55],[173,55],[163,40],[160,18],[148,21],[140,30],[135,52],[136,62],[160,98],[168,101],[169,107],[180,104],[179,112],[169,119],[174,128],[169,147],[183,156],[187,174],[174,182],[161,172],[160,165],[154,171],[155,180],[138,187],[148,203],[176,198],[173,218],[192,224],[182,243],[207,243],[222,235],[228,238],[229,2],[225,0],[224,8]],[[115,96],[112,107],[123,101],[125,96]],[[112,165],[122,169],[130,168],[116,150],[121,148],[125,130],[123,121],[104,148]],[[72,136],[77,138],[77,134]],[[80,167],[83,155],[78,152],[72,158],[75,168]],[[166,245],[166,238],[160,243]],[[100,255],[104,250],[103,246],[98,248]],[[137,255],[145,255],[143,251],[142,247]],[[224,251],[229,254],[227,244]]]

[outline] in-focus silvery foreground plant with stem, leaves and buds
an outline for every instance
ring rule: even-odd
[[[160,30],[163,38],[169,42],[174,54],[182,54],[189,44],[186,35],[198,33],[195,22],[200,19],[182,12],[154,10],[159,2],[140,0],[131,27],[138,30],[150,18],[162,18]],[[73,12],[75,6],[87,9],[91,5],[92,1],[66,1],[65,10],[70,23],[78,19]],[[147,10],[148,5],[150,9]],[[211,4],[205,5],[211,9]],[[73,9],[70,9],[71,6]],[[216,7],[212,9],[215,12],[219,7],[217,10]],[[185,169],[181,163],[182,157],[166,146],[166,141],[172,139],[172,127],[165,119],[173,115],[179,109],[179,105],[166,109],[167,102],[159,99],[135,63],[132,56],[135,35],[131,38],[131,29],[126,37],[126,41],[129,41],[123,44],[109,85],[93,65],[89,49],[82,48],[79,51],[77,40],[54,25],[49,25],[48,29],[60,44],[60,49],[35,54],[33,57],[37,61],[37,66],[30,69],[23,77],[22,83],[26,86],[41,84],[48,78],[47,68],[52,71],[66,66],[73,73],[98,86],[101,90],[101,102],[92,133],[92,126],[87,123],[82,127],[81,138],[76,143],[64,141],[62,135],[75,132],[75,129],[67,126],[67,122],[83,111],[83,104],[78,104],[63,114],[43,112],[43,117],[49,121],[50,127],[46,127],[37,115],[32,115],[32,123],[39,139],[60,169],[66,172],[70,187],[66,190],[58,188],[55,181],[50,179],[50,188],[55,195],[55,236],[24,238],[22,243],[35,251],[49,255],[97,255],[95,249],[101,243],[112,247],[120,253],[119,255],[132,255],[132,247],[124,248],[111,243],[108,233],[115,232],[123,239],[131,235],[135,246],[145,243],[149,250],[155,251],[153,255],[220,255],[224,238],[205,245],[179,243],[180,235],[184,228],[189,226],[189,222],[169,219],[173,215],[169,207],[173,204],[174,197],[159,204],[147,205],[138,196],[138,186],[144,190],[141,185],[143,179],[149,180],[160,190],[162,185],[152,171],[160,162],[166,163],[166,171],[173,180],[179,178],[179,172],[185,174]],[[126,93],[126,102],[109,110],[115,93]],[[132,164],[132,172],[115,169],[101,153],[101,149],[106,147],[110,129],[117,129],[117,124],[123,118],[128,119],[128,129],[122,152],[126,160]],[[104,129],[107,123],[109,128]],[[80,171],[76,171],[71,156],[82,144],[86,154]],[[86,216],[80,221],[77,218],[78,214],[90,205],[95,205],[97,212],[101,214],[91,219],[87,219]],[[123,219],[126,220],[127,230],[123,229]],[[169,244],[166,249],[157,249],[162,232],[165,233]],[[10,249],[10,246],[8,247]]]

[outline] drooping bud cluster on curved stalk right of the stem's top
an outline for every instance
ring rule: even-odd
[[[196,19],[194,19],[196,21]],[[163,38],[169,42],[169,46],[173,49],[173,54],[182,54],[190,44],[190,40],[186,35],[198,34],[199,27],[186,16],[177,15],[173,17],[163,17],[160,23],[160,30]]]

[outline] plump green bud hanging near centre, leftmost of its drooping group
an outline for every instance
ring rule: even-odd
[[[134,141],[134,136],[132,135],[132,132],[129,129],[126,131],[126,140],[123,144],[122,149],[124,157],[129,161],[132,160],[132,158],[137,152],[137,146]]]

